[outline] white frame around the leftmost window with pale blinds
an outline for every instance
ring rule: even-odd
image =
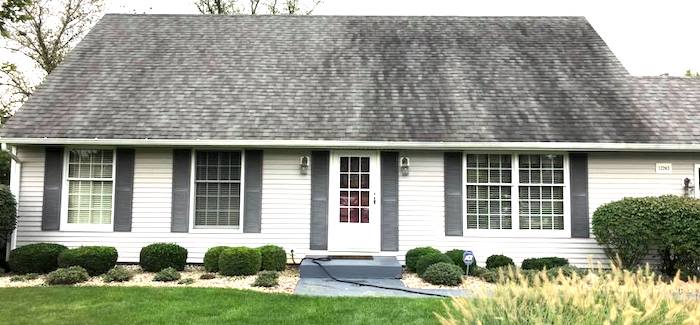
[[[89,223],[68,223],[68,199],[69,199],[69,180],[68,169],[70,162],[71,150],[112,150],[112,211],[110,222],[107,224],[89,224]],[[114,195],[117,183],[117,150],[115,147],[66,147],[63,150],[63,179],[61,181],[61,226],[60,230],[66,231],[97,231],[97,232],[113,232],[114,231]],[[104,181],[105,179],[84,179]]]

